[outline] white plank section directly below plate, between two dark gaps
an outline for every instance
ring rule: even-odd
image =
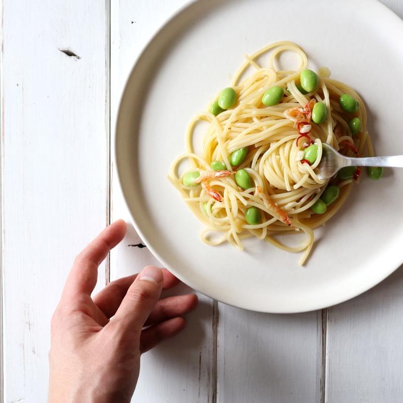
[[[321,312],[263,314],[219,304],[217,402],[318,402]]]

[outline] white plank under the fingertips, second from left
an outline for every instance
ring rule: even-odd
[[[115,127],[120,94],[133,62],[161,24],[185,3],[185,0],[124,0],[111,3],[111,132]],[[130,222],[113,160],[111,172],[111,219],[123,218]],[[126,237],[111,253],[111,280],[137,273],[146,264],[160,264],[146,247],[132,246],[141,243],[139,236],[129,226]],[[186,287],[180,289],[181,293],[190,291]],[[165,342],[142,357],[141,374],[133,401],[213,401],[213,301],[201,295],[199,299],[197,310],[187,315],[187,328],[175,339]]]

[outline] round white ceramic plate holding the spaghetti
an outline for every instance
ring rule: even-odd
[[[185,151],[190,118],[205,110],[245,53],[278,40],[310,67],[358,90],[376,152],[403,154],[403,23],[375,0],[199,0],[153,38],[127,81],[116,129],[119,177],[135,227],[177,277],[219,301],[264,312],[301,312],[352,298],[403,261],[403,170],[363,175],[345,206],[299,254],[256,239],[245,251],[208,246],[201,223],[166,175]]]

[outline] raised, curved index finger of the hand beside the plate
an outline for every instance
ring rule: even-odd
[[[66,280],[62,297],[65,295],[91,295],[97,284],[98,266],[124,237],[126,223],[115,221],[106,227],[74,260]]]

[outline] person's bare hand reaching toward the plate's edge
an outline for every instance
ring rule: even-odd
[[[74,261],[51,321],[48,403],[129,402],[141,354],[180,332],[180,315],[197,305],[194,294],[159,300],[179,280],[154,266],[91,298],[99,264],[125,231],[124,221],[116,221]]]

